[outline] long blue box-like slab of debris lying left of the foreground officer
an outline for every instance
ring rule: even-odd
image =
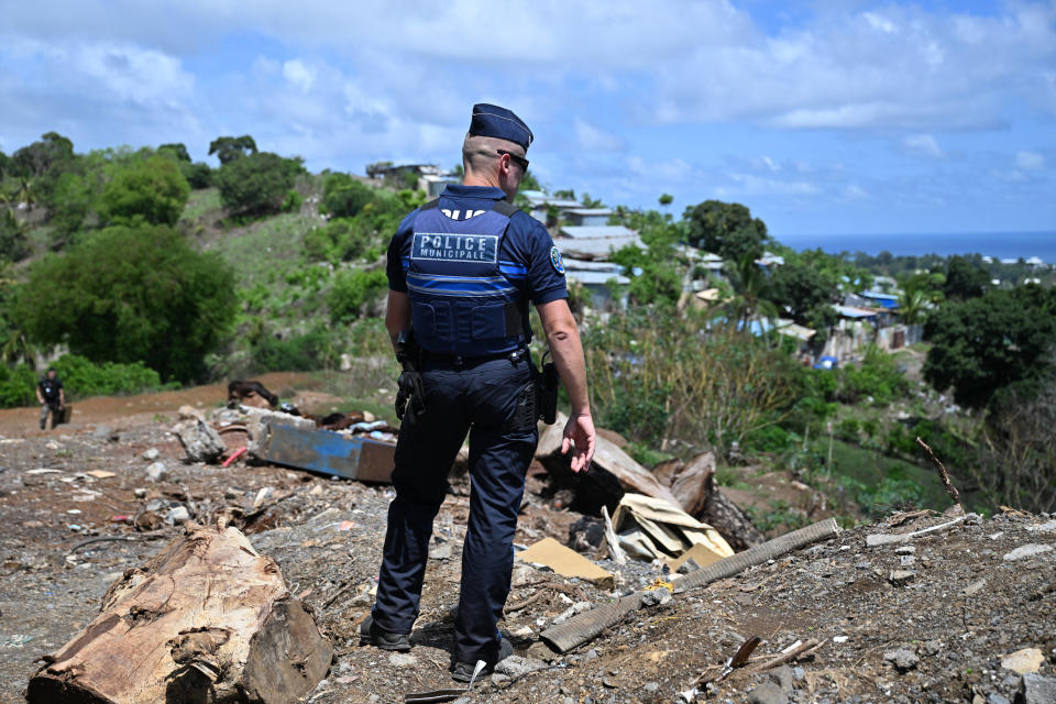
[[[391,482],[395,454],[387,442],[282,425],[271,425],[264,448],[274,464],[361,482]]]

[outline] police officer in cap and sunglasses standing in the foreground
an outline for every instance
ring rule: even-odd
[[[385,326],[397,346],[413,333],[420,381],[396,446],[377,601],[364,642],[409,650],[432,520],[448,472],[470,436],[470,516],[462,552],[452,676],[469,681],[513,653],[497,624],[510,588],[525,473],[538,443],[528,304],[536,306],[572,415],[562,451],[575,472],[594,454],[583,349],[568,305],[561,254],[541,223],[510,201],[532,134],[512,111],[476,105],[462,145],[463,184],[411,212],[388,248]],[[404,378],[404,377],[402,377]]]

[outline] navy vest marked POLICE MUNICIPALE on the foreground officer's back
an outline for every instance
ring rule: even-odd
[[[526,299],[499,261],[516,209],[501,200],[457,220],[438,202],[421,207],[411,235],[407,290],[415,339],[427,352],[466,358],[524,346],[530,339]]]

